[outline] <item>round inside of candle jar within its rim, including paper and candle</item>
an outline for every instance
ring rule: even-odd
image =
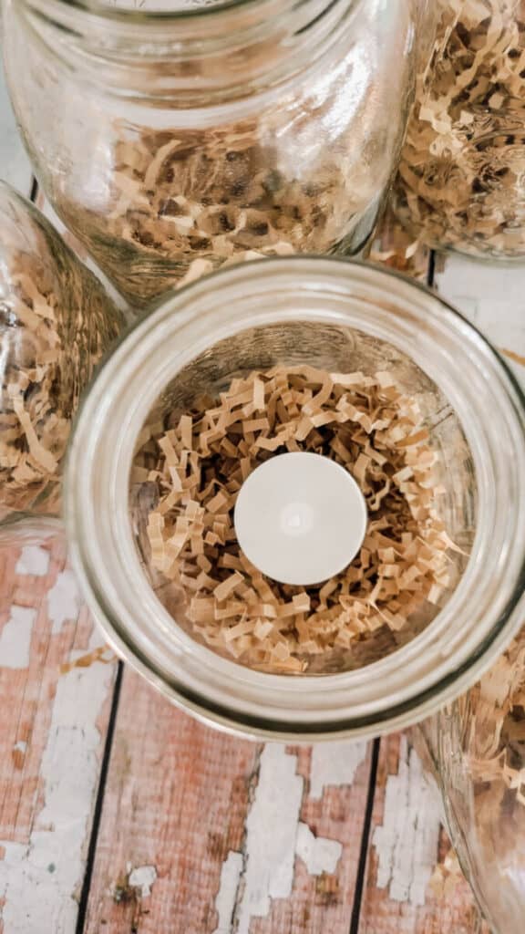
[[[461,506],[452,488],[463,482],[460,459],[470,452],[435,383],[390,343],[314,320],[240,327],[196,351],[140,426],[130,481],[143,573],[177,626],[220,658],[302,678],[369,667],[412,642],[451,598],[475,534],[474,498],[468,526],[454,521]],[[388,369],[377,375],[383,361]],[[257,416],[246,403],[255,388],[264,394]],[[302,406],[318,392],[327,398],[316,429]],[[378,420],[367,421],[368,412]],[[261,432],[249,443],[248,428]],[[281,430],[293,435],[293,453],[282,435],[279,442]],[[397,448],[390,432],[409,447]],[[191,496],[177,492],[181,484],[191,484]],[[300,524],[309,517],[311,533],[291,538],[282,509]],[[186,525],[173,558],[172,536]],[[383,567],[383,559],[393,564]],[[214,596],[220,580],[234,587],[229,597]]]

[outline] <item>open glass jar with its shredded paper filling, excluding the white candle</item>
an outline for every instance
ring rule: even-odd
[[[66,525],[93,616],[151,684],[223,728],[306,739],[414,722],[517,630],[524,416],[486,341],[399,276],[311,257],[206,276],[124,337],[77,423]],[[253,573],[236,536],[246,478],[305,450],[366,498],[362,548],[324,589]],[[442,586],[422,588],[436,569]]]

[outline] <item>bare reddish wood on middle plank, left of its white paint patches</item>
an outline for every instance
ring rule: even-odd
[[[86,931],[215,930],[224,863],[222,920],[233,912],[229,855],[243,850],[260,756],[124,672]]]

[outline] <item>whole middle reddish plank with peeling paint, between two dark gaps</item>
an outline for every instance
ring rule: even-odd
[[[86,934],[348,934],[369,756],[324,750],[214,732],[126,671]]]

